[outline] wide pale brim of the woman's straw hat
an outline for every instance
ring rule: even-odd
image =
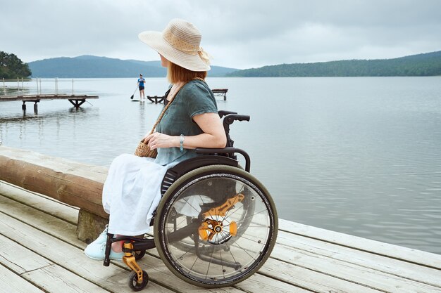
[[[138,34],[139,39],[145,44],[149,45],[155,51],[164,56],[167,60],[192,71],[209,71],[210,65],[205,63],[199,57],[199,54],[190,55],[173,48],[168,42],[163,39],[162,32],[146,31]]]

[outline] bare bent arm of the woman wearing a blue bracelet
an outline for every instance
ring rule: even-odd
[[[194,122],[204,131],[197,136],[185,136],[184,148],[225,148],[227,138],[223,129],[222,120],[217,113],[204,113],[194,115]],[[180,136],[168,136],[155,132],[144,140],[149,141],[149,147],[155,148],[179,148]]]

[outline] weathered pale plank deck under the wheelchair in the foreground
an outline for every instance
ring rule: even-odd
[[[83,254],[78,209],[0,181],[0,292],[132,292],[128,268]],[[280,220],[258,273],[234,287],[203,289],[175,277],[151,249],[142,292],[441,292],[441,255]]]

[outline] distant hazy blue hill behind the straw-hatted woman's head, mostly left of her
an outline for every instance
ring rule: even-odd
[[[165,77],[161,61],[120,60],[97,56],[60,57],[28,63],[32,77]],[[211,66],[209,77],[225,76],[237,69]]]

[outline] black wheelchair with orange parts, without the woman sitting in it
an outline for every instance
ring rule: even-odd
[[[247,115],[219,111],[227,135],[225,148],[198,148],[198,154],[168,169],[154,212],[153,238],[107,234],[104,266],[113,242],[123,240],[124,263],[132,269],[129,286],[146,287],[149,277],[137,264],[156,247],[178,278],[199,287],[235,285],[263,266],[278,233],[278,216],[268,190],[249,174],[250,158],[235,148],[230,124]],[[244,169],[237,155],[244,157]]]

